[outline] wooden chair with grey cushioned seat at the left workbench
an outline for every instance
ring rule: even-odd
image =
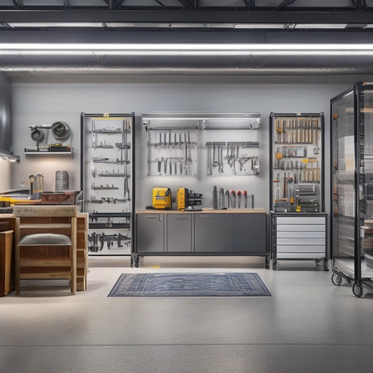
[[[22,279],[69,279],[76,293],[76,206],[15,205],[15,292]]]

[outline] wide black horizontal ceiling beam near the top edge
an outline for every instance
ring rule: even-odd
[[[0,22],[373,23],[365,11],[0,10]]]

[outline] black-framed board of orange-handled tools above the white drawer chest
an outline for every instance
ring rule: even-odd
[[[323,211],[323,113],[271,113],[271,209]]]

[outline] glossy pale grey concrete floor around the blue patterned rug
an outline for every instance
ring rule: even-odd
[[[0,298],[2,372],[373,372],[373,290],[313,262],[90,258],[88,288]],[[183,266],[180,265],[183,263]],[[106,297],[125,272],[257,272],[272,297]]]

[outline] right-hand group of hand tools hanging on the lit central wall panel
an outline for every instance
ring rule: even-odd
[[[207,174],[211,176],[224,173],[225,164],[230,167],[233,175],[247,175],[251,168],[254,175],[258,175],[260,171],[258,157],[250,156],[246,153],[241,153],[241,148],[258,148],[258,141],[207,141]],[[246,162],[251,167],[246,167]],[[239,171],[236,165],[239,165]]]

